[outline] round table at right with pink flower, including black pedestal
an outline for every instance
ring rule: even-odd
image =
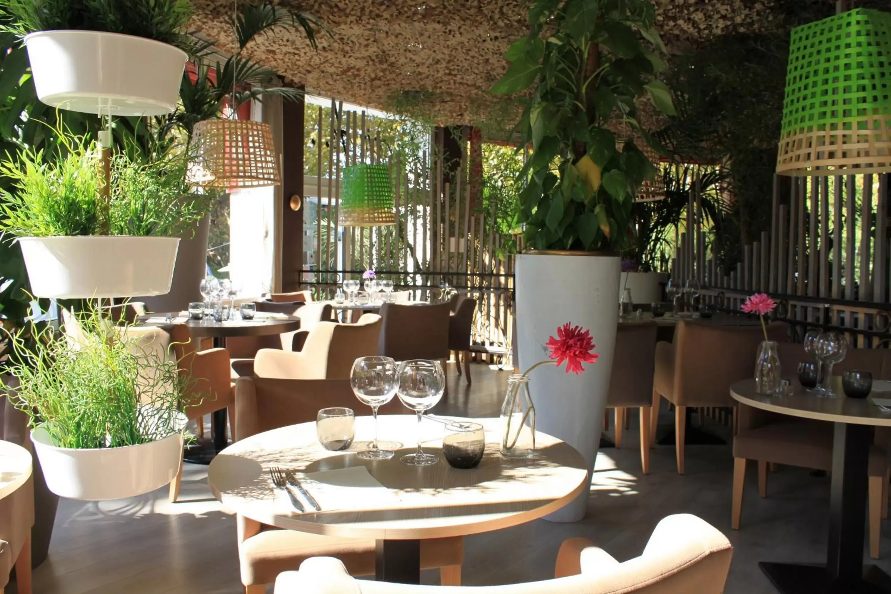
[[[762,561],[761,570],[783,594],[891,593],[891,576],[863,565],[867,470],[873,427],[891,427],[891,412],[868,399],[813,395],[793,381],[788,395],[759,395],[755,380],[730,388],[734,400],[763,411],[834,423],[829,543],[825,564]],[[840,387],[838,389],[840,393]]]

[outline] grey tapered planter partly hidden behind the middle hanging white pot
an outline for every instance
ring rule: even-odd
[[[182,312],[192,301],[203,301],[199,285],[207,271],[210,216],[196,225],[194,234],[185,233],[176,252],[170,292],[156,297],[134,297],[151,312]]]

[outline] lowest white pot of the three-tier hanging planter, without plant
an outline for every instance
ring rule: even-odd
[[[46,486],[60,497],[103,501],[152,492],[176,476],[183,457],[183,435],[121,448],[74,450],[51,443],[45,429],[31,432]]]

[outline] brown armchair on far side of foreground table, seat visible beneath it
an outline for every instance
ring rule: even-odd
[[[235,384],[235,436],[241,440],[261,431],[315,420],[319,409],[356,407],[348,379],[240,378]],[[382,414],[411,414],[394,399]],[[440,570],[444,584],[461,584],[462,537],[421,541],[421,566]],[[350,574],[374,573],[376,542],[278,530],[238,517],[238,557],[245,594],[262,594],[278,574],[296,570],[309,557],[338,557]]]

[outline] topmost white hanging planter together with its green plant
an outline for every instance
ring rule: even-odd
[[[151,116],[176,108],[189,0],[8,0],[40,101],[64,110]]]

